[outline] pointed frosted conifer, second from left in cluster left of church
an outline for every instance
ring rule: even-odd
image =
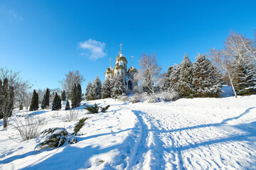
[[[102,83],[98,76],[92,83],[92,88],[90,89],[89,96],[91,97],[91,100],[97,100],[102,98]]]

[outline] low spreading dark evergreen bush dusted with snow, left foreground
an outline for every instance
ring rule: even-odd
[[[68,133],[65,128],[49,128],[43,130],[41,135],[46,135],[46,140],[39,143],[36,147],[61,147],[65,142],[70,144],[77,142],[75,136]]]

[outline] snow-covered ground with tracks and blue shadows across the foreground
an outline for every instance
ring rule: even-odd
[[[14,121],[4,131],[0,120],[0,169],[256,169],[256,95],[83,103],[110,108],[88,114],[80,106],[79,118],[89,119],[78,143],[55,149],[35,149],[40,137],[15,142]],[[48,118],[42,130],[73,132],[78,122],[64,122],[65,111],[27,114]]]

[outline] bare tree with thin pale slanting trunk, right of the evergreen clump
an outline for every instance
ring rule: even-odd
[[[232,73],[231,64],[232,64],[233,58],[230,57],[230,55],[225,55],[225,53],[226,52],[223,52],[223,50],[216,50],[215,48],[213,48],[210,50],[209,57],[210,57],[210,60],[212,60],[213,64],[215,64],[215,66],[218,69],[223,70],[228,74],[228,79],[232,86],[235,98],[237,98],[238,96],[235,92],[235,87],[234,87],[233,79],[231,76],[231,73]]]

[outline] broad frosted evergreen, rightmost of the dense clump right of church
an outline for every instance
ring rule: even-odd
[[[198,54],[193,64],[193,85],[197,97],[219,97],[220,74],[205,55]]]

